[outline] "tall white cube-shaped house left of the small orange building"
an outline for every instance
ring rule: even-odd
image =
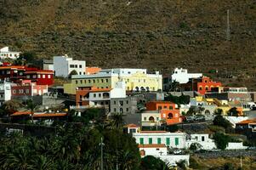
[[[73,60],[67,55],[54,56],[54,71],[56,77],[68,77],[71,71],[77,71],[77,75],[85,75],[86,63],[82,60]]]

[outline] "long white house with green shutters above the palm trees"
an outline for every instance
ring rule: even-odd
[[[133,133],[138,144],[166,144],[170,148],[185,148],[186,133],[140,131]]]

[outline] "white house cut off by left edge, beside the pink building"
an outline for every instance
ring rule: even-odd
[[[5,101],[11,99],[11,86],[14,83],[11,82],[1,82],[0,83],[0,106],[3,105]]]

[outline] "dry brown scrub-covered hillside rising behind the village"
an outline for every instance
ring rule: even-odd
[[[218,69],[224,74],[211,76],[225,84],[256,89],[254,0],[2,0],[0,7],[0,47],[104,68]]]

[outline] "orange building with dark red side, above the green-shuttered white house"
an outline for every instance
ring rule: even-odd
[[[182,122],[179,109],[175,109],[175,104],[169,101],[151,101],[146,103],[147,111],[159,111],[161,119],[167,125],[178,124]]]

